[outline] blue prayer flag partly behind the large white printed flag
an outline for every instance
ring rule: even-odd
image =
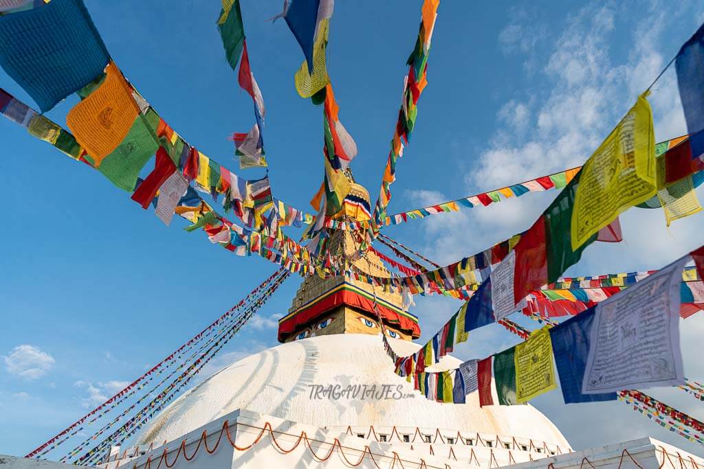
[[[616,400],[615,392],[582,394],[595,310],[591,307],[550,330],[555,366],[558,368],[565,404]]]

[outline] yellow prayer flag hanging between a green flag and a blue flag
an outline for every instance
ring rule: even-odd
[[[516,367],[518,402],[527,402],[557,387],[553,367],[553,344],[547,326],[532,333],[526,342],[516,345],[513,361]]]

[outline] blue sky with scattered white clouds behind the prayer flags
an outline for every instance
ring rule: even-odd
[[[225,62],[215,28],[220,2],[86,3],[115,62],[165,120],[236,168],[227,136],[247,131],[253,112]],[[303,56],[288,28],[265,22],[280,11],[280,0],[242,3],[251,67],[267,106],[272,190],[306,208],[322,176],[322,110],[296,94],[293,74]],[[421,2],[337,3],[328,68],[340,120],[359,148],[354,174],[375,198]],[[584,162],[702,21],[704,7],[696,1],[674,8],[657,0],[444,1],[429,84],[398,163],[390,212]],[[1,71],[0,86],[31,103]],[[69,98],[49,117],[63,124],[75,102]],[[686,132],[674,70],[650,102],[658,141]],[[8,210],[0,231],[0,454],[20,455],[177,348],[275,266],[228,255],[201,234],[182,231],[181,221],[165,228],[129,194],[12,122],[0,120],[0,137]],[[387,234],[444,264],[527,228],[554,196],[528,194]],[[631,210],[622,224],[623,243],[591,246],[567,274],[663,266],[702,243],[704,214],[675,221],[668,231],[659,210]],[[296,278],[287,281],[209,372],[276,345],[276,319],[297,287]],[[416,302],[424,338],[459,307],[444,298]],[[681,326],[685,372],[698,380],[704,378],[696,360],[701,316]],[[485,356],[513,343],[509,333],[489,327],[455,355]],[[683,392],[653,394],[704,418]],[[575,448],[653,435],[703,454],[621,403],[565,406],[551,392],[534,404]]]

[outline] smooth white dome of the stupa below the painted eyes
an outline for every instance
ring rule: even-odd
[[[398,354],[420,348],[390,339]],[[445,356],[429,371],[456,368]],[[397,385],[401,399],[311,399],[311,385]],[[496,398],[494,399],[496,401]],[[553,423],[530,405],[479,407],[477,392],[467,404],[426,399],[394,373],[379,335],[334,334],[284,343],[222,368],[176,399],[137,438],[137,444],[177,439],[237,409],[294,420],[319,428],[439,428],[463,434],[503,435],[559,446],[570,444]]]

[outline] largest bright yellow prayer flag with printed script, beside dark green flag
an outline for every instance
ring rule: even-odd
[[[655,195],[655,133],[647,94],[638,97],[582,167],[572,210],[572,250]]]

